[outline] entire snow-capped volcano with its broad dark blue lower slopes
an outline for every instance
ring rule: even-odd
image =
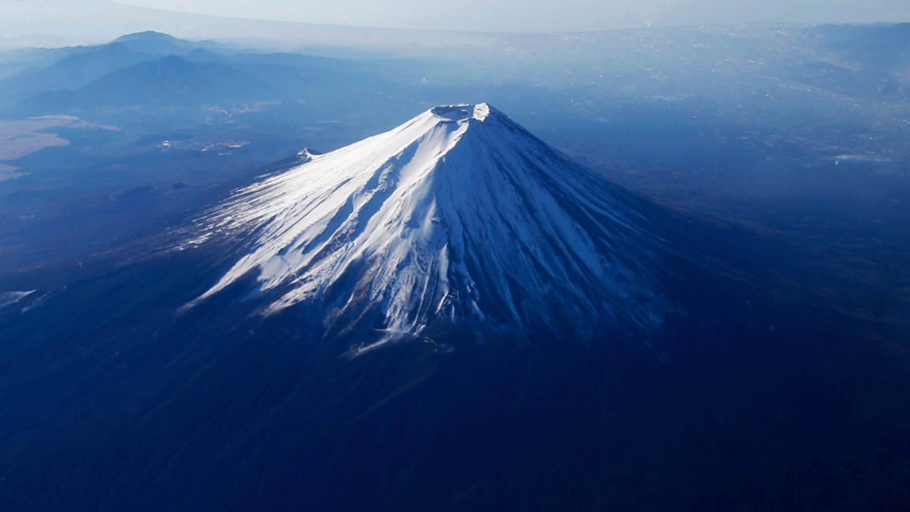
[[[768,238],[486,104],[263,172],[186,224],[3,275],[0,508],[910,498],[900,332],[806,299]]]

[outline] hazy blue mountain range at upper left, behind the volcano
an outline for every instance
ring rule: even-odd
[[[44,115],[102,107],[198,108],[268,101],[313,87],[349,88],[352,77],[339,73],[363,67],[306,55],[228,54],[215,43],[154,32],[56,55],[62,56],[50,65],[0,81],[0,106],[11,107],[16,115]]]

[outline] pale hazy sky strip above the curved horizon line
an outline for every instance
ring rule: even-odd
[[[910,21],[910,0],[116,0],[180,12],[331,25],[584,31],[740,22]]]

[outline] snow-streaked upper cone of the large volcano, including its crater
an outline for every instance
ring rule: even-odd
[[[319,303],[390,333],[655,327],[662,242],[633,204],[490,105],[437,106],[207,212],[187,246],[246,254],[187,306],[255,273],[266,315]]]

